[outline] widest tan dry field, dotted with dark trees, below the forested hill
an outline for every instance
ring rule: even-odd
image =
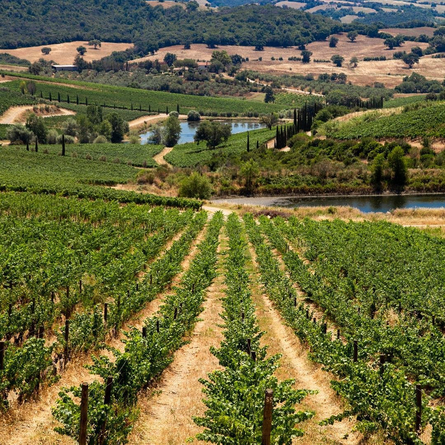
[[[409,76],[413,71],[430,79],[443,80],[445,59],[432,59],[431,56],[424,56],[420,59],[420,63],[415,65],[412,70],[401,60],[393,59],[396,51],[409,52],[413,46],[426,48],[428,43],[422,42],[405,42],[401,47],[388,49],[383,44],[383,39],[369,38],[358,36],[353,43],[348,40],[346,34],[338,34],[339,39],[336,48],[330,48],[328,41],[317,41],[307,45],[312,51],[312,59],[310,63],[289,61],[292,56],[300,56],[300,50],[294,46],[287,48],[265,47],[264,51],[255,51],[253,46],[220,46],[219,50],[225,50],[229,54],[240,54],[242,57],[248,57],[249,61],[243,64],[243,68],[255,70],[262,73],[270,74],[313,74],[318,76],[321,73],[345,73],[348,79],[359,85],[368,85],[373,82],[382,82],[387,87],[398,85],[404,76]],[[182,45],[169,46],[161,48],[156,54],[136,59],[135,62],[143,60],[162,60],[167,52],[175,53],[178,59],[191,58],[196,60],[210,60],[212,58],[213,49],[207,48],[205,44],[192,44],[190,49],[184,49]],[[334,54],[340,54],[345,58],[343,67],[336,67],[332,62],[314,62],[318,60],[330,60]],[[349,60],[352,57],[358,57],[359,63],[356,68],[351,68]],[[364,57],[386,56],[385,61],[364,62]],[[259,61],[259,58],[262,61]],[[275,60],[271,60],[274,57]],[[283,60],[278,60],[282,57]]]

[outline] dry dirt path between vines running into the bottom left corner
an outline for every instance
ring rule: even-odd
[[[164,252],[166,252],[172,244],[177,241],[184,230],[180,230],[168,243],[166,243]],[[203,232],[198,235],[202,236]],[[193,254],[193,249],[190,255]],[[163,254],[159,255],[161,257]],[[172,285],[178,283],[184,270],[188,268],[190,259],[189,255],[181,263],[182,271],[175,276]],[[170,286],[170,287],[171,287]],[[169,288],[170,288],[169,287]],[[151,317],[157,312],[161,305],[162,295],[158,295],[153,301],[147,302],[144,308],[135,314],[130,321],[124,324],[118,333],[117,337],[108,336],[107,344],[124,350],[122,340],[125,339],[124,330],[128,330],[130,326],[141,328],[143,321]],[[97,351],[94,355],[107,355],[107,351]],[[82,382],[91,383],[97,376],[91,375],[87,369],[86,364],[92,364],[91,355],[86,354],[75,358],[68,365],[63,372],[61,379],[57,384],[51,387],[44,387],[39,394],[39,399],[19,406],[17,409],[8,411],[2,421],[0,422],[0,445],[71,445],[77,444],[72,438],[61,436],[54,431],[54,427],[58,422],[54,420],[51,414],[51,407],[55,405],[58,398],[58,393],[63,387],[79,386]]]

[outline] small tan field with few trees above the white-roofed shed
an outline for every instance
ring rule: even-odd
[[[48,46],[51,48],[51,52],[45,56],[42,54],[42,48]],[[57,43],[55,45],[42,45],[42,46],[29,46],[27,48],[17,48],[17,49],[2,49],[2,52],[7,52],[13,56],[19,57],[20,59],[26,59],[30,62],[35,62],[40,58],[45,60],[54,60],[54,62],[59,65],[69,65],[73,63],[74,58],[77,55],[76,48],[78,46],[85,46],[87,52],[85,53],[84,59],[87,62],[92,60],[98,60],[102,57],[109,56],[113,51],[124,51],[127,48],[132,48],[133,43],[111,43],[102,42],[102,47],[94,49],[93,46],[88,46],[88,42],[85,41],[72,41],[67,43]],[[25,70],[28,68],[24,67]]]

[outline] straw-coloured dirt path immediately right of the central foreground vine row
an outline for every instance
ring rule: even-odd
[[[296,388],[318,391],[317,394],[307,396],[299,409],[315,411],[315,416],[301,425],[305,435],[299,444],[319,445],[343,444],[356,445],[360,442],[357,433],[352,433],[354,423],[348,419],[335,422],[334,425],[320,426],[318,422],[343,411],[341,400],[330,387],[333,376],[313,364],[307,356],[306,348],[300,343],[293,330],[285,325],[284,320],[273,307],[259,283],[259,271],[256,255],[252,247],[249,249],[253,262],[253,275],[256,277],[253,298],[257,306],[257,317],[260,328],[266,331],[264,344],[269,345],[269,354],[282,354],[279,371],[280,378],[294,378]]]

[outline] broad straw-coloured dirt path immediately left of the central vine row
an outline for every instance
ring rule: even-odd
[[[219,368],[218,360],[210,353],[210,346],[218,347],[223,339],[221,297],[223,296],[223,261],[225,240],[218,246],[219,276],[211,284],[204,302],[204,311],[190,336],[190,342],[175,354],[173,363],[164,372],[159,385],[151,393],[139,398],[140,417],[132,434],[130,445],[182,445],[194,437],[200,428],[192,415],[202,415],[205,406],[199,378]],[[158,393],[159,391],[159,393]],[[194,442],[196,443],[196,442]],[[202,442],[198,442],[202,443]]]

